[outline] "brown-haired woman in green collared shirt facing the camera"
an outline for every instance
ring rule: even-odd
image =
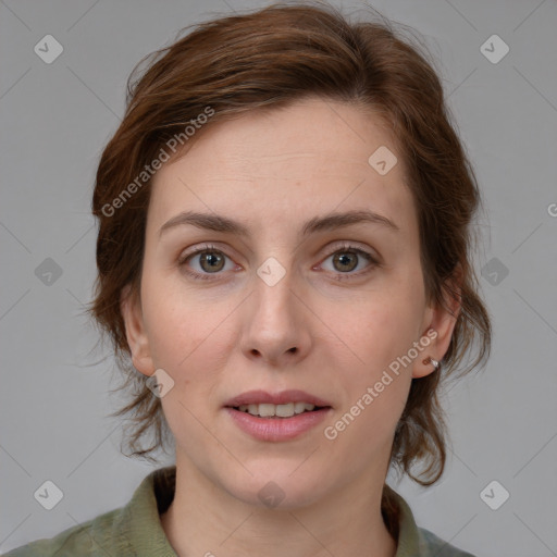
[[[301,3],[156,54],[97,172],[91,312],[139,385],[132,454],[172,434],[176,466],[8,555],[469,556],[385,483],[440,479],[437,389],[490,348],[437,75]]]

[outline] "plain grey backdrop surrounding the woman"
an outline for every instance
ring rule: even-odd
[[[108,347],[89,352],[97,335],[81,314],[96,271],[94,173],[136,62],[191,23],[264,4],[0,1],[2,552],[124,505],[151,471],[119,453],[122,428],[106,418],[119,407],[112,360],[98,361]],[[445,396],[442,481],[392,485],[419,525],[471,553],[557,555],[557,3],[372,5],[418,29],[438,59],[485,197],[478,268],[488,264],[495,331],[486,370]],[[51,64],[34,52],[47,34],[64,49]],[[498,63],[480,50],[493,34],[510,48]],[[62,270],[50,285],[35,274],[47,258]],[[33,496],[46,480],[64,494],[50,511]],[[492,480],[510,493],[497,510],[480,497]]]

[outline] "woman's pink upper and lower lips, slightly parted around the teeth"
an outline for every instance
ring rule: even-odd
[[[319,410],[294,414],[290,418],[260,418],[248,412],[240,412],[234,407],[252,404],[284,405],[287,403],[309,403]],[[231,398],[224,410],[233,422],[245,433],[259,441],[289,441],[308,432],[321,423],[333,410],[331,404],[305,391],[289,389],[271,394],[267,391],[248,391]]]

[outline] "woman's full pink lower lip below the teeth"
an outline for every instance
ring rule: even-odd
[[[242,431],[257,440],[288,441],[321,423],[332,408],[302,412],[292,418],[260,418],[230,407],[226,407],[225,410]]]

